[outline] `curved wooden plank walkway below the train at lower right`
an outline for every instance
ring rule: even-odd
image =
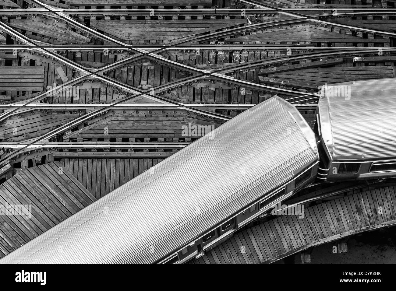
[[[396,186],[375,188],[277,216],[237,232],[192,264],[270,263],[309,247],[396,224]]]

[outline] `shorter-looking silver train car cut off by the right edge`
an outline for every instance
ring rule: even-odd
[[[396,78],[332,84],[320,95],[318,178],[396,177]]]

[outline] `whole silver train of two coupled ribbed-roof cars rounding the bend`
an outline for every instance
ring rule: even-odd
[[[350,99],[324,92],[314,130],[271,97],[0,263],[183,263],[315,179],[395,177],[395,81],[342,86]]]

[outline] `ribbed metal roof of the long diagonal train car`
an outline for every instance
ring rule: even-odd
[[[318,161],[313,132],[295,107],[276,96],[212,134],[0,262],[156,262]]]

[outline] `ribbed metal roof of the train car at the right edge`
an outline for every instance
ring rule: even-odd
[[[329,94],[325,91],[319,112],[323,139],[333,160],[395,158],[396,78],[331,86],[342,87]],[[344,96],[335,96],[335,90],[344,90]]]

